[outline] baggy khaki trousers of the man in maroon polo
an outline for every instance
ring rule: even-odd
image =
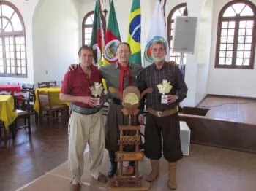
[[[99,177],[105,149],[105,132],[102,111],[96,114],[83,115],[72,112],[69,119],[69,171],[81,184],[83,175],[83,152],[89,144],[89,161],[91,176]]]

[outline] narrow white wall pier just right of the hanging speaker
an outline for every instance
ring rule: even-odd
[[[207,0],[202,7],[199,22],[197,47],[197,85],[195,90],[195,105],[207,95],[208,71],[211,55],[213,0]]]

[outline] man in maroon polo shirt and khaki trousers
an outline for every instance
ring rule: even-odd
[[[89,87],[94,82],[102,83],[102,77],[92,65],[94,52],[83,45],[78,52],[79,66],[64,76],[60,98],[71,103],[72,114],[69,119],[69,171],[73,176],[72,190],[78,190],[83,175],[83,152],[89,144],[91,176],[100,182],[108,178],[99,172],[105,149],[105,133],[102,111],[96,106],[97,100],[91,96]]]

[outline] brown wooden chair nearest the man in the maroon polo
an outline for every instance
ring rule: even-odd
[[[53,127],[53,119],[62,118],[62,121],[67,122],[67,106],[52,105],[50,102],[50,93],[45,91],[37,91],[37,98],[39,101],[39,123],[42,124],[42,117],[48,117],[50,120],[50,129]],[[42,114],[42,112],[48,112]],[[61,111],[61,116],[55,115],[55,112]]]

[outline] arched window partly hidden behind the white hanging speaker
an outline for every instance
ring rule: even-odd
[[[174,28],[174,19],[176,16],[187,15],[187,4],[178,4],[176,7],[171,9],[168,19],[167,19],[167,38],[168,42],[170,42],[170,60],[176,61],[178,63],[180,54],[179,53],[172,53],[172,41],[173,41],[173,28]],[[184,64],[186,63],[186,55],[184,54]]]

